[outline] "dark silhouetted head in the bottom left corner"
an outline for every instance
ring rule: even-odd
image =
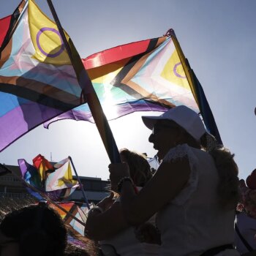
[[[1,256],[59,256],[66,244],[61,217],[45,204],[12,211],[0,224]]]

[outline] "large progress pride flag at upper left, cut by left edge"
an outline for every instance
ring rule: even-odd
[[[22,3],[12,15],[15,20],[7,17],[0,22],[0,151],[81,104],[82,89],[56,24],[33,0]],[[91,83],[83,78],[85,84]]]

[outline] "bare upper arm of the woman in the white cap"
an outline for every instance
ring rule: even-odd
[[[166,206],[186,186],[189,174],[189,162],[185,158],[176,162],[162,162],[153,178],[132,199],[129,206],[123,205],[128,222],[132,225],[141,224]],[[154,204],[148,203],[152,198],[157,200],[154,200]]]

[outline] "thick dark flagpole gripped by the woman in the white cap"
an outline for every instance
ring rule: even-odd
[[[94,87],[92,86],[91,80],[89,79],[86,69],[83,66],[83,62],[81,61],[80,56],[77,52],[72,53],[72,51],[69,47],[69,44],[67,42],[67,38],[62,29],[61,23],[59,21],[58,15],[56,13],[56,10],[53,7],[53,3],[51,0],[47,0],[47,2],[48,2],[48,6],[50,8],[50,12],[52,13],[53,18],[56,22],[56,26],[58,27],[59,33],[61,35],[61,39],[64,42],[64,46],[69,55],[69,59],[72,63],[72,66],[75,69],[75,72],[76,72],[76,75],[78,78],[78,82],[80,83],[80,87],[82,89],[83,97],[85,97],[87,99],[87,103],[91,110],[91,114],[94,118],[95,124],[98,128],[99,135],[102,138],[105,149],[108,153],[108,157],[110,158],[110,162],[111,163],[121,162],[119,151],[116,146],[116,141],[113,138],[113,133],[108,124],[108,120],[105,117],[105,114],[102,110],[102,106],[100,105],[97,94],[94,91]],[[72,43],[71,40],[69,42]],[[77,67],[77,68],[75,68],[75,67]],[[78,73],[78,69],[80,71],[79,73]],[[80,79],[81,74],[83,76],[81,76],[81,79]],[[85,85],[86,80],[88,80],[89,83],[86,83],[86,85]],[[83,84],[81,84],[81,83],[83,83]]]

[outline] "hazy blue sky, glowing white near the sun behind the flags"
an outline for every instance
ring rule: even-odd
[[[0,18],[20,0],[4,1]],[[37,4],[50,16],[46,0]],[[160,37],[173,28],[203,86],[222,141],[236,154],[240,177],[255,169],[256,146],[256,1],[254,0],[53,0],[61,24],[81,58],[107,48]],[[50,16],[51,17],[51,16]],[[118,148],[156,151],[150,130],[135,113],[110,121]],[[153,113],[157,115],[157,113]],[[59,121],[24,135],[0,153],[0,162],[17,165],[42,154],[59,162],[71,156],[80,176],[108,178],[110,163],[94,124]]]

